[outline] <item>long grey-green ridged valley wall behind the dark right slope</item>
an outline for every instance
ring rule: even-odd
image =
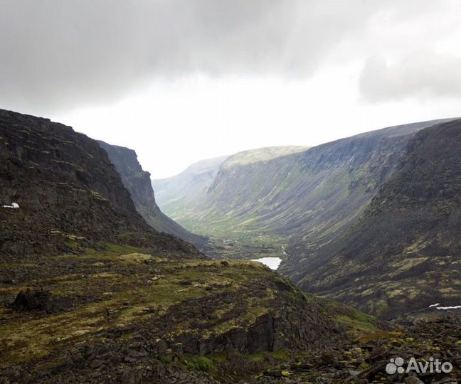
[[[389,127],[268,160],[231,156],[190,213],[176,219],[195,233],[260,247],[262,254],[285,257],[282,245],[292,237],[315,250],[355,223],[408,139],[436,122]],[[238,257],[245,252],[234,250]]]

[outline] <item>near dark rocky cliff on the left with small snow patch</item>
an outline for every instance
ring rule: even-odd
[[[49,119],[0,110],[2,253],[63,252],[97,242],[193,250],[137,213],[107,154]]]

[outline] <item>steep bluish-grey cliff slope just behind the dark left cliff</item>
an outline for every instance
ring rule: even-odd
[[[135,151],[102,141],[98,143],[107,152],[110,161],[122,177],[122,183],[129,191],[134,206],[149,225],[159,232],[170,233],[196,246],[203,246],[206,242],[205,238],[190,233],[161,212],[155,202],[150,174],[143,171]]]

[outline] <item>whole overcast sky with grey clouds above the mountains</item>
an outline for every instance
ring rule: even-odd
[[[459,0],[0,0],[0,108],[201,159],[461,116]]]

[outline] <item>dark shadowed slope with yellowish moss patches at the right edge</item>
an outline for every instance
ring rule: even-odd
[[[309,292],[391,318],[461,302],[461,119],[406,145],[354,228],[317,252],[290,247],[282,272]]]

